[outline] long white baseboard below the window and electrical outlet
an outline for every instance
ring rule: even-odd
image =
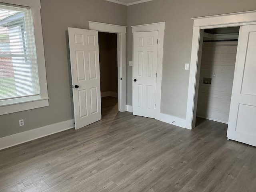
[[[62,121],[0,138],[0,150],[74,128],[74,120]]]

